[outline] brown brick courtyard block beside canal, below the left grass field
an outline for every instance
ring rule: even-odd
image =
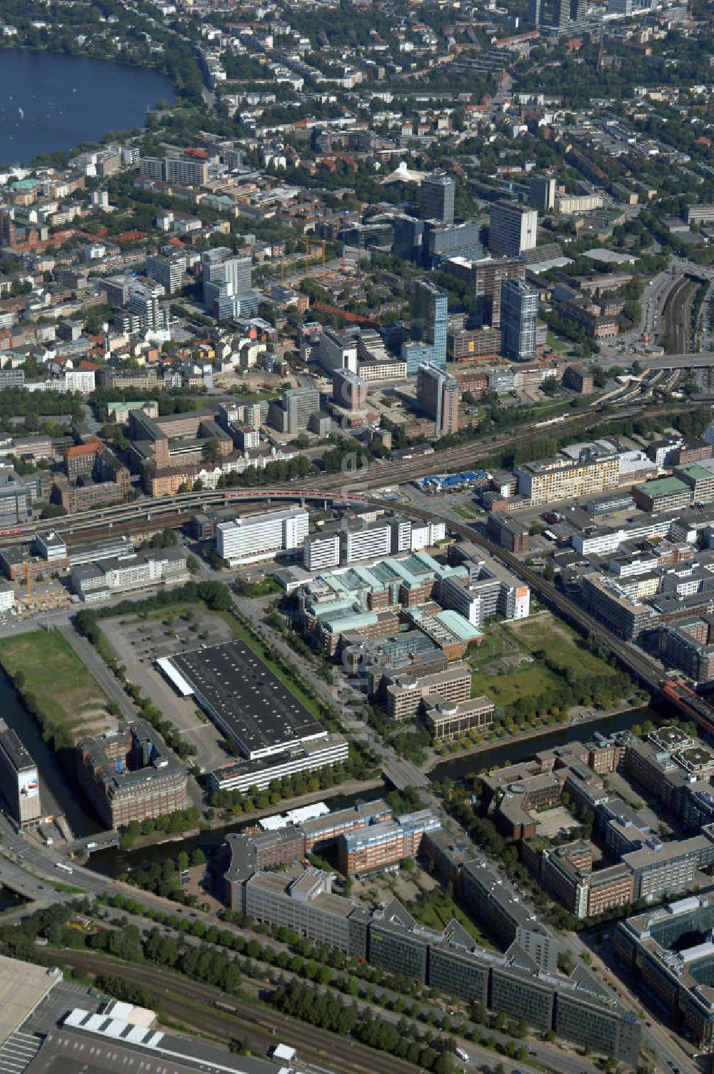
[[[144,720],[83,739],[77,779],[107,828],[164,816],[188,806],[186,769]]]

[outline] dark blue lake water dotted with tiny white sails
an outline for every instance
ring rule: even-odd
[[[0,50],[0,164],[97,142],[144,126],[147,107],[173,101],[156,71],[82,56]]]

